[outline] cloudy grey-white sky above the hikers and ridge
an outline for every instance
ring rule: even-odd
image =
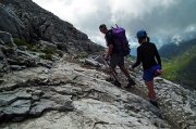
[[[196,34],[196,0],[33,0],[61,20],[74,25],[88,38],[106,46],[98,27],[118,24],[126,29],[132,46],[135,34],[143,28],[160,47],[193,38]],[[196,36],[196,35],[195,35]]]

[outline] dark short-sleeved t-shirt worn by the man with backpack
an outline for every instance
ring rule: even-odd
[[[106,36],[105,36],[106,42],[107,42],[107,47],[109,47],[109,44],[113,44],[113,50],[111,52],[111,55],[113,53],[117,53],[117,49],[115,49],[115,44],[114,44],[114,40],[113,40],[113,36],[112,36],[112,30],[108,30]]]

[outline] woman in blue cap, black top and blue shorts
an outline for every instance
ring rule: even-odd
[[[137,48],[137,61],[132,66],[132,69],[134,69],[140,63],[143,63],[143,69],[144,69],[143,79],[148,88],[148,92],[149,92],[148,95],[150,98],[150,103],[158,107],[156,93],[154,91],[154,77],[155,77],[154,73],[157,69],[161,69],[160,55],[158,53],[156,46],[150,42],[150,39],[144,29],[137,31],[136,38],[140,46]]]

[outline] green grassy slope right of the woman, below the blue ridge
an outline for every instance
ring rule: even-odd
[[[195,87],[196,83],[196,46],[181,52],[171,60],[163,61],[163,77]],[[195,87],[196,88],[196,87]]]

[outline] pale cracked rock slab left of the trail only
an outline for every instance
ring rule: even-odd
[[[96,69],[61,61],[51,69],[8,76],[0,87],[0,119],[21,122],[1,128],[170,128],[158,108],[105,81]]]

